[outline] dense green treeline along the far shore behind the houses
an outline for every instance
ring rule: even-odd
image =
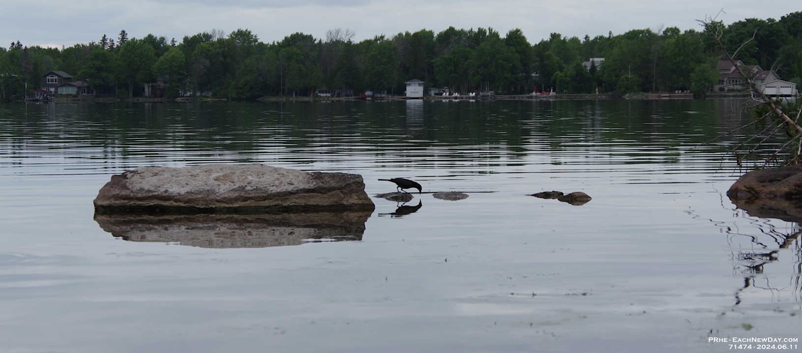
[[[776,70],[802,83],[802,12],[776,21],[749,18],[727,26],[726,45],[746,64]],[[250,30],[219,30],[186,36],[181,42],[148,34],[43,48],[11,43],[0,48],[2,98],[22,98],[37,89],[43,74],[61,70],[86,79],[95,91],[140,96],[143,84],[163,78],[167,95],[210,90],[214,97],[254,99],[310,95],[319,88],[403,94],[406,82],[448,86],[462,93],[493,90],[526,94],[621,94],[692,90],[702,93],[719,79],[720,52],[696,30],[668,27],[625,34],[565,38],[551,34],[535,45],[521,30],[502,37],[492,28],[449,27],[375,36],[353,42],[350,30],[330,30],[326,38],[295,33],[280,42],[260,42]],[[589,58],[605,58],[587,68]]]

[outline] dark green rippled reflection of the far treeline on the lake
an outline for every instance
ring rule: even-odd
[[[318,162],[335,154],[404,163],[470,159],[488,166],[544,153],[560,163],[609,163],[610,156],[620,158],[615,162],[676,163],[686,153],[730,148],[723,143],[687,149],[726,130],[721,115],[729,113],[719,111],[719,102],[705,100],[121,102],[7,108],[0,110],[0,149],[11,154],[33,145],[73,154],[84,150],[121,167],[143,160]],[[742,125],[739,118],[726,119]],[[581,160],[565,160],[577,157]]]

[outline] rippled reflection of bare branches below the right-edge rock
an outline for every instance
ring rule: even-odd
[[[786,222],[780,219],[759,218],[737,208],[722,207],[733,211],[733,218],[748,220],[751,227],[738,227],[735,222],[721,222],[708,219],[719,226],[720,231],[727,234],[727,243],[733,248],[731,252],[732,271],[735,276],[743,276],[743,287],[735,291],[735,305],[742,301],[743,291],[756,288],[772,293],[772,299],[780,299],[781,292],[790,291],[795,301],[802,300],[802,247],[800,247],[800,223]],[[757,213],[755,211],[752,211]],[[698,218],[692,211],[688,215]],[[773,222],[773,223],[772,223]],[[786,227],[777,227],[774,223],[784,222]],[[756,229],[755,229],[756,227]],[[782,229],[785,228],[785,229]],[[740,247],[741,240],[751,244],[751,251]],[[790,254],[788,254],[790,252]],[[780,254],[792,256],[793,270],[788,284],[772,283],[766,270],[772,263],[778,263]]]

